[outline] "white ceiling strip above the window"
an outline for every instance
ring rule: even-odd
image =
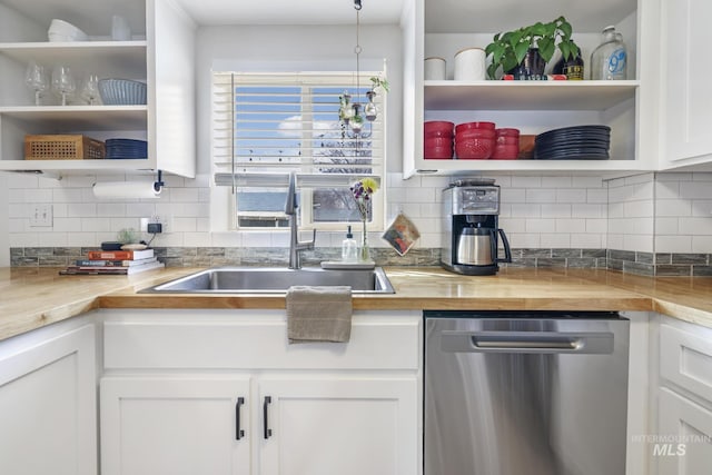
[[[201,26],[352,24],[353,0],[176,0]],[[398,23],[404,1],[362,0],[364,23]]]

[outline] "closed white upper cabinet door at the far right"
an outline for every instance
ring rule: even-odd
[[[712,62],[706,58],[708,46],[712,43],[712,2],[664,0],[662,3],[664,165],[674,167],[682,165],[680,160],[688,159],[710,161],[712,95],[709,78]]]

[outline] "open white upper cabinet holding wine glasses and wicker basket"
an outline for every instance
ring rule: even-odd
[[[0,170],[51,175],[146,172],[195,176],[195,26],[169,0],[0,0]],[[110,41],[112,14],[125,16],[130,41]],[[52,18],[72,22],[90,41],[48,42]],[[51,92],[34,105],[24,69],[69,66],[80,91],[89,73],[146,81],[145,106],[57,106]],[[73,105],[72,105],[73,103]],[[24,160],[26,135],[86,135],[148,141],[145,159]]]

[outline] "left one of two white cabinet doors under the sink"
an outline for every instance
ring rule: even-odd
[[[249,474],[249,378],[106,377],[100,390],[103,475]]]

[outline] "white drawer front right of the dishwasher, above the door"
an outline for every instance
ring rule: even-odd
[[[712,402],[712,339],[662,325],[660,374],[663,379]]]

